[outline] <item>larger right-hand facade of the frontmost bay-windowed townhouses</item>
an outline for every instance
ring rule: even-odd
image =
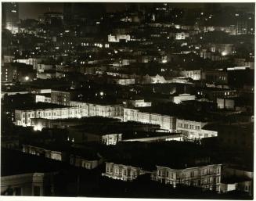
[[[193,185],[204,189],[220,191],[221,164],[191,167],[182,170],[157,166],[156,181],[171,184]]]

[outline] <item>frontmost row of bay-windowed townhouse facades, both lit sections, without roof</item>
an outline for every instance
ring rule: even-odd
[[[174,169],[171,167],[156,166],[156,170],[144,170],[142,167],[106,162],[106,173],[103,176],[122,181],[133,181],[141,174],[151,174],[153,181],[164,184],[197,186],[220,192],[221,164],[186,167]]]

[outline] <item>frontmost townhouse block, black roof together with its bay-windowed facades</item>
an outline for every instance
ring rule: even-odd
[[[134,156],[134,151],[130,150],[123,158],[117,155],[113,161],[106,162],[106,174],[103,175],[133,181],[141,174],[150,174],[153,181],[172,185],[174,188],[176,185],[188,185],[220,192],[222,164],[214,163],[206,153],[200,153],[204,150],[197,145],[174,141],[169,143],[159,142],[148,146],[134,144],[135,147],[143,147],[137,148],[140,153]],[[162,145],[161,150],[157,150],[159,145]],[[180,150],[178,156],[175,156],[175,149]],[[170,160],[161,155],[163,152],[168,153]],[[198,155],[192,155],[191,152],[197,152]]]

